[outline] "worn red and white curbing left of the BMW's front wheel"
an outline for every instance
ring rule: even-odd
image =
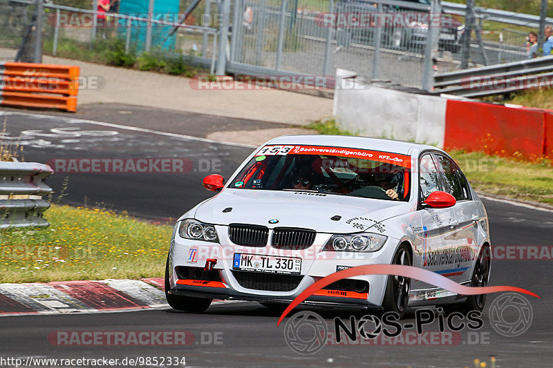
[[[168,307],[162,278],[0,284],[0,316]]]

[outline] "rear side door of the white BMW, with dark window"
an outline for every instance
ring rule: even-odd
[[[441,153],[435,153],[434,156],[444,191],[456,199],[455,206],[451,208],[456,218],[452,229],[455,232],[456,246],[451,250],[451,269],[446,271],[452,280],[463,282],[470,279],[472,261],[478,251],[478,220],[482,217],[480,204],[472,200],[467,179],[453,159]]]

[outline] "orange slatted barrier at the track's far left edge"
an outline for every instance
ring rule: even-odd
[[[77,111],[79,67],[0,62],[0,106]]]

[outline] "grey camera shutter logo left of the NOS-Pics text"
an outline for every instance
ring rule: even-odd
[[[301,311],[286,321],[284,338],[293,351],[314,354],[326,344],[328,326],[317,313]]]

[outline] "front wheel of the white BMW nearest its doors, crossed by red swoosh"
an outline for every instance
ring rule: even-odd
[[[402,244],[402,246],[400,246],[395,252],[392,264],[411,266],[411,262],[409,249],[407,249],[406,244]],[[402,318],[407,310],[407,304],[409,304],[409,291],[411,291],[410,278],[388,275],[388,282],[386,283],[386,291],[384,293],[384,302],[382,303],[384,311],[395,312],[400,315],[400,318]]]

